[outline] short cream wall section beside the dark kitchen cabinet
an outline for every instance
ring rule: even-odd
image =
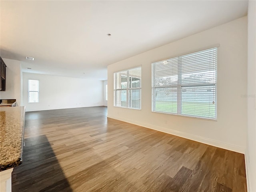
[[[16,99],[16,104],[22,106],[22,72],[20,61],[5,59],[6,91],[0,92],[0,99]]]

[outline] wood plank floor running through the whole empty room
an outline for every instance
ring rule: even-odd
[[[246,192],[244,155],[106,118],[106,107],[26,112],[13,192]]]

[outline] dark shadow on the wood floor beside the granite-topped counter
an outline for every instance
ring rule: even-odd
[[[45,135],[24,140],[23,162],[12,172],[15,192],[72,192]]]

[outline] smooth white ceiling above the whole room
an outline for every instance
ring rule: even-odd
[[[109,64],[246,16],[247,6],[244,0],[1,0],[0,54],[22,61],[24,72],[106,80]]]

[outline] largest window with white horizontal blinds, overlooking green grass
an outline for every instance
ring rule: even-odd
[[[152,63],[152,111],[217,118],[217,48]]]

